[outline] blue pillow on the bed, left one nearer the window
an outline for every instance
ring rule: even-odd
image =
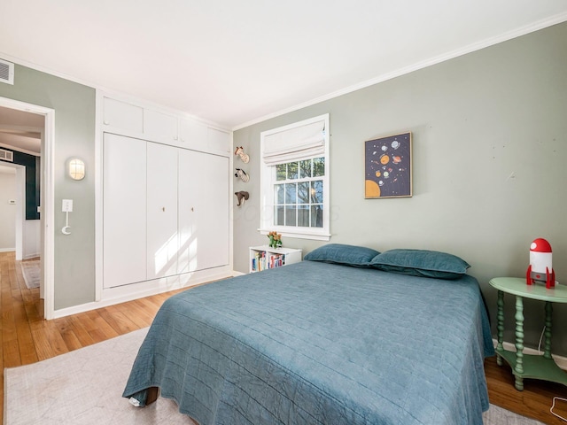
[[[328,243],[309,252],[304,259],[352,267],[369,267],[370,260],[376,258],[379,253],[364,246]]]

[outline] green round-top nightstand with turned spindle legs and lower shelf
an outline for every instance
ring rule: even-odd
[[[567,385],[567,374],[551,357],[551,316],[553,303],[567,303],[567,286],[555,283],[555,288],[546,289],[545,284],[528,285],[518,277],[495,277],[491,286],[498,290],[498,345],[496,359],[502,365],[505,359],[516,376],[516,389],[524,390],[524,378],[542,379]],[[516,352],[504,350],[504,292],[516,296]],[[546,330],[543,355],[524,354],[524,298],[545,301]]]

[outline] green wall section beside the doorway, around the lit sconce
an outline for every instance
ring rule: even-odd
[[[0,84],[0,97],[55,110],[54,183],[55,309],[81,305],[95,299],[95,89],[15,66],[14,85]],[[74,182],[66,174],[66,162],[85,161],[87,175]],[[65,225],[62,199],[74,199],[69,213],[71,235]]]

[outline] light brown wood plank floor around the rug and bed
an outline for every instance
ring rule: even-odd
[[[4,416],[4,367],[35,363],[150,326],[159,306],[181,291],[44,321],[39,290],[27,289],[13,252],[0,252],[0,287],[0,418]],[[498,367],[495,358],[485,360],[485,374],[494,405],[551,425],[567,423],[549,413],[553,397],[567,398],[567,387],[524,380],[524,391],[517,391],[510,368]],[[560,403],[555,412],[567,418],[567,402]]]

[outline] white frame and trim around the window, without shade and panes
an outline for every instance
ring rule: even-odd
[[[324,158],[325,173],[322,177],[311,177],[313,180],[322,180],[322,228],[300,227],[300,226],[277,226],[274,224],[275,219],[275,185],[281,184],[282,181],[276,179],[276,165],[266,164],[264,161],[265,137],[276,133],[285,132],[294,128],[306,126],[310,123],[324,121],[324,141],[322,153],[309,153],[305,156],[299,156],[294,159],[283,160],[278,164],[288,164],[291,162],[299,162],[301,160]],[[260,133],[260,234],[268,235],[271,231],[276,231],[282,236],[297,237],[302,239],[312,239],[320,241],[330,240],[330,127],[329,114],[320,115],[308,120],[294,122],[290,125],[273,128]],[[286,180],[287,181],[287,180]]]

